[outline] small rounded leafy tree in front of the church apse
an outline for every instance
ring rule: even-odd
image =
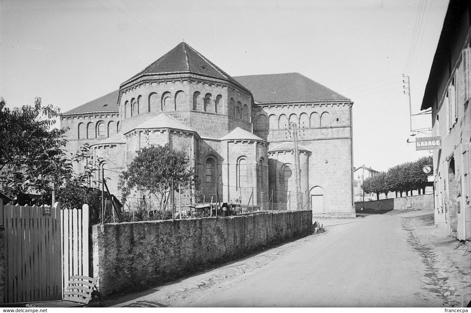
[[[170,144],[149,146],[137,151],[137,156],[128,164],[128,169],[120,175],[118,189],[122,191],[125,202],[131,191],[137,189],[154,195],[163,211],[167,204],[172,179],[179,192],[179,185],[195,185],[196,176],[189,169],[189,158],[185,150],[176,150]]]

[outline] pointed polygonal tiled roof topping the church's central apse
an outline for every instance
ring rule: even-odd
[[[244,86],[242,86],[238,81],[229,76],[229,74],[221,70],[216,64],[212,63],[194,48],[191,48],[186,42],[180,42],[177,47],[171,49],[126,82],[133,80],[142,74],[172,72],[192,72],[199,75],[228,80],[235,85],[244,88]]]

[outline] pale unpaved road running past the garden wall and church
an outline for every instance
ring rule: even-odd
[[[437,278],[433,255],[411,235],[407,219],[371,215],[324,223],[325,233],[117,306],[451,306],[441,293],[446,280]]]

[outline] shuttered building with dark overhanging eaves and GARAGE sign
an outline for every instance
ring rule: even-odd
[[[425,87],[421,110],[430,110],[435,223],[448,236],[471,239],[471,11],[450,0]]]

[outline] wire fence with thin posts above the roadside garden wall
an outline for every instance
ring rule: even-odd
[[[105,169],[112,172],[112,170]],[[116,171],[113,171],[116,172]],[[120,209],[103,201],[103,221],[144,221],[189,217],[224,217],[276,211],[310,210],[307,191],[279,185],[268,189],[259,186],[234,186],[221,183],[195,185],[175,184],[163,194],[134,190],[122,199]]]

